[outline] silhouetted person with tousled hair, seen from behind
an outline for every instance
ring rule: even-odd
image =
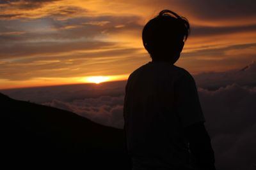
[[[173,65],[189,35],[189,22],[170,10],[142,32],[152,61],[129,76],[124,119],[132,169],[215,169],[193,76]]]

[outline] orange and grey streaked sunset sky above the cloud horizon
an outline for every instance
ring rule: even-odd
[[[0,89],[125,80],[150,61],[141,31],[159,11],[188,18],[176,66],[191,74],[256,60],[256,1],[0,0]]]

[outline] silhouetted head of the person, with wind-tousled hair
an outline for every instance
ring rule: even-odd
[[[152,60],[174,64],[180,57],[189,32],[189,22],[186,18],[173,11],[163,10],[143,28],[143,45]]]

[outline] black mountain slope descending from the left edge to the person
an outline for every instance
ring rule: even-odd
[[[0,94],[1,160],[38,167],[128,169],[124,133],[75,113]],[[7,164],[7,163],[6,163]],[[17,165],[19,166],[19,165]]]

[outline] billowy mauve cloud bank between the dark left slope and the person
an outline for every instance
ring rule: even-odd
[[[99,124],[122,129],[124,127],[123,103],[124,96],[100,96],[97,98],[76,99],[72,102],[54,99],[44,104],[72,111]]]

